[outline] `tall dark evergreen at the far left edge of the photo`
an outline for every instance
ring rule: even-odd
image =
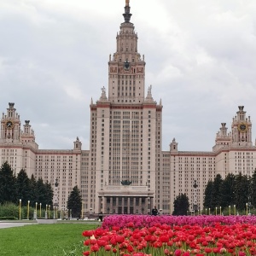
[[[0,204],[17,201],[16,177],[8,162],[0,168]]]

